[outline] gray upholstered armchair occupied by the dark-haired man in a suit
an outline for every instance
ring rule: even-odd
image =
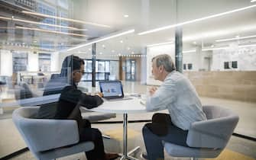
[[[39,107],[20,107],[12,120],[37,159],[55,159],[94,149],[92,142],[79,142],[76,120],[34,119]]]

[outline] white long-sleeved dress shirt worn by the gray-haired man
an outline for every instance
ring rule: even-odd
[[[147,98],[147,110],[168,109],[175,126],[189,130],[193,122],[206,120],[196,89],[180,72],[170,72],[164,83]]]

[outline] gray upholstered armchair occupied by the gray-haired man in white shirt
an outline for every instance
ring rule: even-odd
[[[215,158],[228,143],[239,117],[222,107],[203,106],[207,120],[195,122],[190,126],[186,144],[177,146],[163,142],[167,153],[173,157]]]

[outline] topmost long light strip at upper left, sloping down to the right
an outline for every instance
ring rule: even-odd
[[[44,18],[56,18],[56,19],[60,19],[60,20],[64,20],[64,21],[72,21],[72,22],[81,23],[81,24],[91,24],[91,25],[95,25],[95,26],[99,26],[99,27],[110,27],[105,24],[96,24],[96,23],[92,23],[92,22],[74,20],[74,19],[70,19],[70,18],[61,18],[61,17],[57,17],[57,16],[53,16],[53,15],[41,14],[41,13],[32,12],[32,11],[21,11],[21,12],[25,13],[25,14],[39,15]]]

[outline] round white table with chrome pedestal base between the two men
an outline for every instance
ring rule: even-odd
[[[128,114],[139,114],[139,113],[146,113],[146,107],[140,103],[140,98],[132,98],[131,100],[124,100],[124,101],[104,101],[99,107],[92,108],[92,111],[96,112],[104,112],[104,113],[115,113],[115,114],[123,114],[124,121],[123,121],[123,154],[121,159],[131,159],[133,158],[129,156],[132,152],[135,152],[140,147],[136,147],[132,149],[130,152],[127,152],[127,118]],[[85,108],[85,107],[84,107]],[[86,109],[86,108],[85,108]],[[88,109],[87,109],[88,110]]]

